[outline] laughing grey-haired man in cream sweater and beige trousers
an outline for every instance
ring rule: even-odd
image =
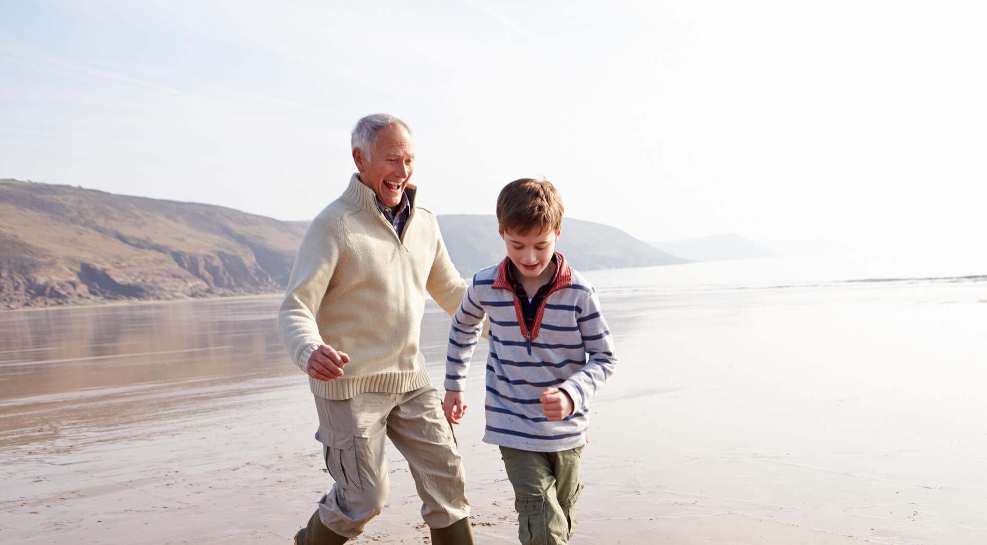
[[[451,315],[466,282],[408,184],[408,125],[361,118],[352,155],[358,172],[309,225],[277,319],[282,343],[309,375],[316,439],[336,480],[295,543],[342,543],[380,513],[386,434],[408,459],[432,543],[470,544],[462,458],[418,350],[425,292]]]

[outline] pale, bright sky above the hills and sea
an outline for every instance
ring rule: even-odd
[[[420,204],[547,177],[646,241],[987,247],[979,1],[0,0],[0,178],[310,219],[408,121]]]

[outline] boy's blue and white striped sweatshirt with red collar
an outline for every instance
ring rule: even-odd
[[[490,316],[485,442],[537,452],[585,444],[589,400],[614,372],[613,339],[596,291],[562,254],[556,257],[555,283],[530,332],[507,279],[508,258],[473,276],[452,317],[445,388],[463,391],[484,316]],[[541,394],[550,386],[572,398],[574,412],[560,422],[542,412]]]

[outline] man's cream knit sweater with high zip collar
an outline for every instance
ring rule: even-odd
[[[305,370],[319,345],[349,354],[341,378],[309,377],[312,393],[349,399],[362,392],[408,392],[429,384],[418,350],[425,291],[448,314],[466,292],[434,214],[415,205],[399,240],[356,174],[312,220],[277,316],[278,335]]]

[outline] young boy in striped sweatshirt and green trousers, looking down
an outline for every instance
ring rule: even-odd
[[[500,191],[507,257],[473,277],[446,356],[442,409],[459,424],[470,356],[490,316],[483,440],[500,447],[524,545],[569,543],[589,400],[616,362],[596,292],[555,251],[562,214],[547,181],[515,180]]]

